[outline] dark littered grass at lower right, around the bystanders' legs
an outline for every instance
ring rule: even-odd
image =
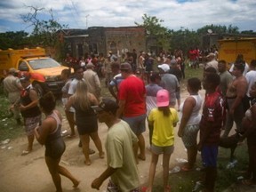
[[[237,163],[233,168],[227,168],[229,163],[229,149],[219,148],[218,156],[218,176],[215,182],[215,192],[221,192],[231,186],[237,181],[237,177],[241,176],[241,171],[246,170],[248,164],[248,152],[247,146],[239,146],[236,148],[236,160]],[[197,163],[200,162],[201,157],[198,156]],[[171,158],[172,161],[172,158]],[[169,175],[169,185],[172,188],[172,192],[188,192],[196,185],[196,181],[200,180],[204,172],[191,171],[191,172],[177,172]],[[153,191],[163,191],[163,179],[162,174],[159,174],[155,178]],[[199,191],[199,190],[196,190]]]

